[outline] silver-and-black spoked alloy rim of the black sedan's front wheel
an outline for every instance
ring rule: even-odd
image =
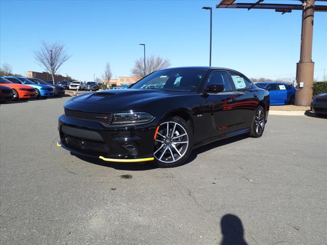
[[[164,163],[181,159],[189,146],[189,136],[184,127],[175,121],[160,124],[155,138],[154,157]]]

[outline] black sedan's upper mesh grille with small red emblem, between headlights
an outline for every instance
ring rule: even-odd
[[[105,125],[110,125],[113,117],[111,113],[96,113],[69,109],[65,109],[65,116],[89,121],[98,121]]]

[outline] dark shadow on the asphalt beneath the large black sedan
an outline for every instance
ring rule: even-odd
[[[233,142],[236,142],[236,141],[239,141],[242,139],[246,139],[246,138],[248,138],[247,135],[238,135],[238,136],[234,136],[234,137],[227,138],[227,139],[222,139],[222,140],[201,146],[192,151],[190,157],[188,158],[188,160],[185,161],[184,164],[188,164],[188,163],[192,162],[193,160],[195,160],[197,158],[198,154],[201,154],[203,152],[212,150],[214,148],[218,148],[219,146],[230,144],[230,143],[233,143]],[[217,149],[217,151],[219,151],[219,149]],[[112,167],[114,169],[119,169],[119,170],[142,171],[142,170],[149,170],[149,169],[157,168],[151,162],[141,162],[141,163],[106,162],[106,161],[103,161],[98,158],[86,157],[86,156],[82,156],[82,155],[78,155],[78,154],[74,154],[74,153],[71,153],[71,155],[76,156],[77,158],[79,158],[83,161],[89,162],[89,163],[93,163],[93,164],[97,164],[97,165],[101,165],[101,166]],[[184,165],[184,164],[182,164],[182,165]],[[177,167],[179,167],[179,166],[177,166]]]

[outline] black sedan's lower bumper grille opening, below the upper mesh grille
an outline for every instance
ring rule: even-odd
[[[68,147],[77,148],[79,150],[109,152],[108,145],[104,142],[75,138],[66,134],[64,134],[63,137],[63,140]]]

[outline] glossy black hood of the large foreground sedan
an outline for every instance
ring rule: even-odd
[[[69,100],[64,107],[71,110],[90,112],[118,112],[147,108],[147,105],[164,103],[172,97],[196,94],[194,92],[171,92],[148,89],[114,89],[85,93]]]

